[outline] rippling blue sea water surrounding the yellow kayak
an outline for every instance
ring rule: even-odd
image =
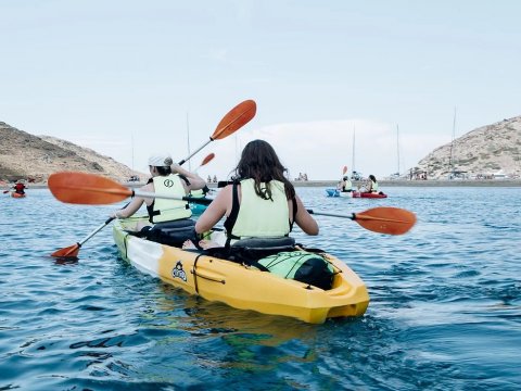
[[[387,188],[327,198],[330,213],[404,207],[404,236],[317,216],[298,241],[367,283],[364,317],[307,325],[190,297],[122,261],[105,228],[76,262],[53,251],[114,205],[66,205],[48,190],[0,199],[0,390],[517,390],[521,387],[521,189]],[[123,203],[122,203],[123,204]]]

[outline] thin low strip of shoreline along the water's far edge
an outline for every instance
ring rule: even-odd
[[[323,187],[335,188],[338,180],[294,180],[296,187]],[[521,187],[521,179],[482,179],[482,180],[379,180],[382,188],[389,187]],[[139,182],[122,184],[129,188],[139,188],[144,185]],[[353,188],[363,185],[363,181],[353,181]],[[217,184],[207,184],[208,188],[217,188]],[[3,188],[3,187],[2,187]],[[47,184],[28,184],[27,189],[47,189]]]

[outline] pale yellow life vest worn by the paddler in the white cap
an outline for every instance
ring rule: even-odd
[[[156,193],[183,198],[187,195],[181,178],[178,174],[168,176],[156,176],[153,178],[154,189]],[[149,212],[150,215],[150,212]],[[192,211],[187,201],[154,199],[151,223],[171,222],[181,218],[188,218],[192,215]]]

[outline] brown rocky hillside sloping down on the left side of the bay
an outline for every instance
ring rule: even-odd
[[[0,122],[0,180],[46,182],[50,174],[78,171],[126,181],[142,176],[112,157],[48,136],[34,136]]]

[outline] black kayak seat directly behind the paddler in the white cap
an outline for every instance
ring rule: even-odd
[[[157,223],[149,229],[144,237],[148,240],[180,248],[190,239],[196,242],[195,222],[191,218],[182,218],[174,222]]]

